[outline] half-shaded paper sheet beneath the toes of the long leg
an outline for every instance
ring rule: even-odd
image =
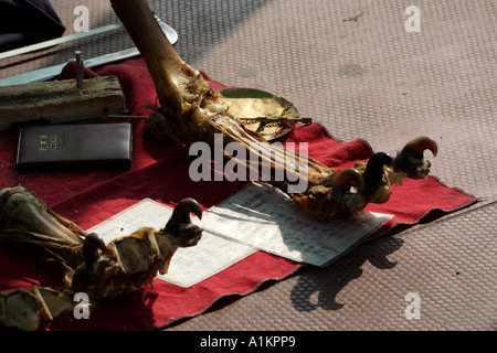
[[[350,220],[322,223],[305,214],[279,190],[253,183],[211,207],[203,226],[271,254],[326,266],[392,217],[363,212]]]

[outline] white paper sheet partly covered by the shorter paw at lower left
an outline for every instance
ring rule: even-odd
[[[113,239],[129,235],[141,227],[163,228],[171,214],[171,207],[145,199],[87,232],[97,233],[108,244]],[[203,227],[202,221],[194,216],[192,216],[192,222]],[[158,278],[180,287],[191,287],[254,252],[256,249],[251,246],[220,237],[204,229],[202,238],[195,246],[179,248],[175,253],[168,274],[158,274]]]

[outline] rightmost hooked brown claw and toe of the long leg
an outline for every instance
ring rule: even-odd
[[[424,151],[430,150],[436,157],[438,147],[426,136],[417,137],[408,142],[396,156],[394,171],[411,179],[423,179],[430,173],[430,161],[424,158]]]

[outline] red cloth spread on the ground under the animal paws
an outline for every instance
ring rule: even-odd
[[[85,77],[116,75],[133,115],[148,115],[146,104],[154,104],[154,84],[141,58],[110,64]],[[74,64],[63,71],[62,78],[74,77]],[[214,88],[222,86],[210,81]],[[141,120],[134,120],[134,162],[129,170],[95,169],[66,171],[15,170],[18,133],[0,132],[0,188],[20,182],[36,191],[49,207],[87,229],[138,201],[150,197],[173,205],[190,196],[204,210],[241,190],[244,182],[192,182],[188,175],[190,162],[186,150],[160,143],[142,133]],[[296,129],[286,141],[309,142],[309,156],[334,167],[343,168],[368,159],[372,151],[362,140],[341,143],[317,124]],[[394,214],[379,236],[395,228],[403,229],[430,216],[447,213],[475,202],[476,199],[442,185],[436,179],[406,180],[393,189],[391,200],[368,210]],[[166,223],[167,220],[165,220]],[[175,260],[175,258],[172,258]],[[190,288],[180,288],[161,280],[142,292],[99,303],[89,320],[59,319],[53,327],[67,330],[146,330],[162,327],[175,320],[200,314],[225,296],[244,296],[264,281],[279,280],[300,268],[300,264],[257,252],[224,271]],[[62,271],[55,265],[27,258],[0,245],[0,290],[28,287],[33,284],[56,287]]]

